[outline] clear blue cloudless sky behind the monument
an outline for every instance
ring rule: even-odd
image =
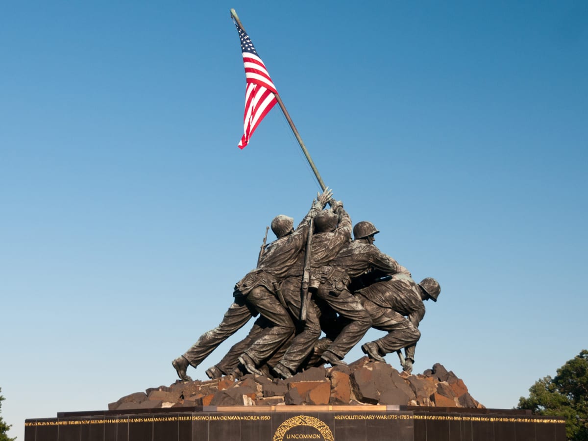
[[[510,409],[588,349],[586,2],[4,2],[9,436],[175,382],[171,360],[222,319],[265,226],[316,196],[277,106],[237,148],[230,8],[353,222],[439,280],[415,372],[442,363]]]

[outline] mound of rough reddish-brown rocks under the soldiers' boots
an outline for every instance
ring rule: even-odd
[[[186,406],[409,405],[484,408],[452,371],[436,363],[422,374],[399,373],[363,357],[349,366],[310,368],[286,380],[245,375],[150,387],[108,410]]]

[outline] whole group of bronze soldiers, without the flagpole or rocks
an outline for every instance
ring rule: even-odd
[[[343,358],[372,326],[387,334],[362,345],[373,360],[405,349],[412,370],[423,300],[439,296],[435,279],[414,282],[410,272],[373,245],[375,226],[353,228],[343,203],[326,189],[293,229],[293,219],[272,220],[276,240],[262,245],[258,267],[235,285],[235,299],[215,329],[204,333],[172,365],[182,380],[226,338],[260,314],[248,336],[206,375],[289,377],[313,364],[345,365]],[[329,203],[330,208],[324,209]],[[405,318],[406,316],[406,318]],[[326,338],[320,339],[322,332]]]

